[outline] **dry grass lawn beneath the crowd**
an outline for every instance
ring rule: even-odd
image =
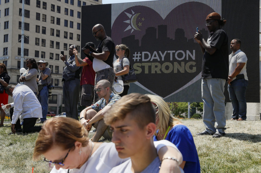
[[[196,136],[205,129],[201,119],[182,119],[182,122],[193,135],[201,172],[260,172],[260,121],[227,121],[227,135],[221,138]],[[35,173],[50,172],[43,160],[32,161],[38,133],[8,135],[10,132],[10,124],[0,128],[0,172],[32,172],[32,167]]]

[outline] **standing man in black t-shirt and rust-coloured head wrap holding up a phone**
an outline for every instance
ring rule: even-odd
[[[211,33],[207,41],[198,30],[194,38],[203,52],[201,94],[203,100],[203,122],[205,130],[197,135],[226,135],[224,86],[228,78],[228,36],[221,29],[226,20],[216,13],[206,17],[206,26]],[[217,128],[215,128],[215,122]]]

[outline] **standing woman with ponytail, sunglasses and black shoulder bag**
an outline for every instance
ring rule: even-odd
[[[130,62],[129,55],[130,50],[125,44],[116,45],[116,55],[119,57],[113,63],[115,75],[118,80],[122,80],[122,75],[126,75],[129,72]],[[128,94],[130,84],[123,83],[123,92],[119,94],[121,97]]]

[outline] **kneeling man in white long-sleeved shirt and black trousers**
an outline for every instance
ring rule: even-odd
[[[8,85],[6,93],[12,96],[13,103],[6,104],[5,107],[14,107],[13,119],[11,124],[12,133],[39,132],[41,126],[34,127],[36,120],[42,118],[42,107],[36,98],[34,92],[26,85]],[[23,129],[21,129],[20,119],[23,120]]]

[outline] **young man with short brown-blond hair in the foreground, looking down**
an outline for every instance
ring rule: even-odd
[[[119,157],[131,158],[112,168],[111,173],[159,172],[161,162],[174,165],[174,172],[182,171],[179,154],[162,160],[157,155],[152,139],[156,131],[156,114],[148,96],[138,93],[123,96],[106,112],[104,121],[113,131],[111,142],[115,143]]]

